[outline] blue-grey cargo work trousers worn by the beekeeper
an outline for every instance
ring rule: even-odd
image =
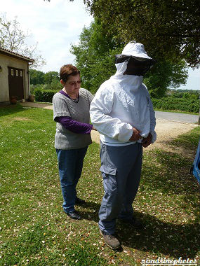
[[[116,218],[128,220],[133,217],[132,204],[142,168],[142,144],[101,144],[100,158],[105,194],[99,211],[99,227],[107,235],[112,235]]]

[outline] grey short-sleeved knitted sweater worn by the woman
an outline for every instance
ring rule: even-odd
[[[53,96],[53,119],[59,116],[69,116],[81,123],[90,123],[90,105],[93,94],[81,88],[79,102],[75,103],[60,92]],[[76,134],[67,130],[61,123],[56,123],[55,148],[71,150],[84,148],[92,143],[91,134]]]

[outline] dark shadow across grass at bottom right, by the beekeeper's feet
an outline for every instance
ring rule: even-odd
[[[195,258],[200,248],[199,223],[175,225],[147,214],[142,214],[142,219],[146,221],[146,226],[140,231],[118,223],[123,245],[158,256],[164,254],[174,258]]]

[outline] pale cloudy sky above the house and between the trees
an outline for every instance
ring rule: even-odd
[[[63,64],[74,64],[70,53],[72,44],[79,43],[79,35],[93,18],[86,11],[83,0],[0,0],[0,13],[6,13],[8,20],[17,16],[23,31],[32,34],[29,43],[38,42],[39,54],[46,65],[39,70],[58,71]],[[189,68],[186,85],[180,89],[200,90],[200,69]]]

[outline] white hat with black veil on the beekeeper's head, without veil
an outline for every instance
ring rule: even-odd
[[[145,51],[145,46],[142,43],[136,43],[135,41],[131,41],[128,43],[124,50],[121,52],[121,55],[128,55],[128,56],[135,56],[135,57],[142,57],[147,59],[152,59],[147,55]]]

